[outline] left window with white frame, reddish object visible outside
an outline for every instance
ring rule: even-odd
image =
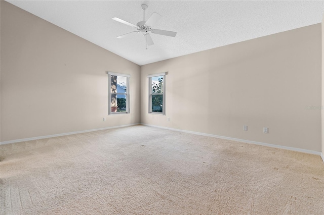
[[[130,75],[108,72],[108,114],[130,113]]]

